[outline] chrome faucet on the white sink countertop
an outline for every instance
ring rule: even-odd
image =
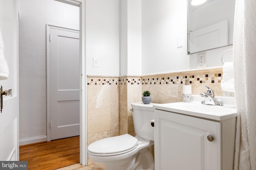
[[[200,94],[201,97],[204,97],[205,100],[203,100],[201,102],[201,104],[210,104],[210,105],[217,105],[217,106],[223,106],[223,102],[217,101],[214,98],[214,92],[212,89],[206,87],[206,86],[202,86],[203,88],[206,88],[206,93],[202,92]]]

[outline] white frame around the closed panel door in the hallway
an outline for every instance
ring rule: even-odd
[[[51,141],[51,92],[50,92],[50,87],[51,87],[51,81],[50,81],[50,75],[51,75],[51,64],[50,64],[50,53],[51,53],[51,48],[50,48],[50,33],[51,33],[51,28],[53,29],[60,29],[64,31],[75,31],[79,33],[79,30],[77,29],[72,29],[64,26],[59,26],[59,25],[54,25],[51,23],[46,23],[46,137],[47,141]],[[80,35],[80,34],[79,34]],[[80,42],[80,40],[79,40]],[[80,50],[80,48],[79,48]],[[81,61],[80,61],[81,62]],[[80,82],[81,84],[81,82]],[[81,89],[81,88],[80,88]],[[80,103],[81,104],[81,103]]]

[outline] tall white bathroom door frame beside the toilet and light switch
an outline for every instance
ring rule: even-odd
[[[80,91],[80,164],[82,164],[83,166],[86,166],[87,165],[87,78],[86,78],[85,0],[56,0],[56,1],[78,6],[80,10],[79,12],[79,51],[80,51],[79,55],[80,55],[80,90],[81,90]]]

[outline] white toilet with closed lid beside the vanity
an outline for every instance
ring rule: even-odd
[[[128,134],[100,139],[88,146],[88,157],[102,170],[154,170],[154,103],[132,103],[136,136]]]

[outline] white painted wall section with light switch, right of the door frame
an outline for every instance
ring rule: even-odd
[[[119,0],[86,0],[86,61],[89,75],[119,76]]]

